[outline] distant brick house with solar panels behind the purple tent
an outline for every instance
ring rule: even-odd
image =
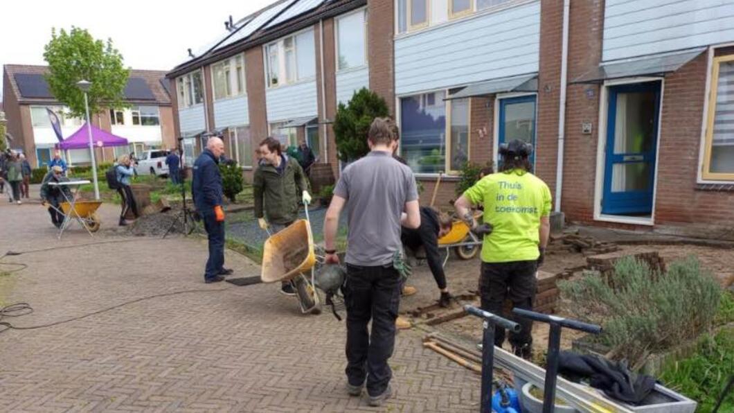
[[[48,91],[43,78],[47,71],[46,66],[37,65],[4,65],[3,68],[3,101],[11,148],[26,154],[33,168],[46,165],[58,143],[46,108],[59,116],[64,137],[84,124],[83,119],[64,115],[65,107]],[[126,103],[130,106],[90,114],[92,124],[129,142],[123,147],[97,148],[98,162],[112,162],[120,154],[139,154],[148,148],[175,148],[169,84],[164,76],[162,71],[132,70],[125,90]],[[70,165],[91,162],[88,149],[65,151],[65,157]]]

